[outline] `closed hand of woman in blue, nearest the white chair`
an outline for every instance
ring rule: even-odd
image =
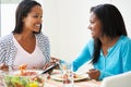
[[[98,79],[98,77],[100,76],[100,72],[95,69],[90,70],[87,74],[90,75],[91,79]]]

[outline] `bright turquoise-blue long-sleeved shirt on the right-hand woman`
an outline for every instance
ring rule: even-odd
[[[92,59],[93,49],[94,40],[91,39],[81,54],[73,61],[73,71],[76,71],[81,65]],[[108,49],[106,57],[100,50],[99,60],[94,64],[94,67],[100,71],[99,79],[131,71],[131,39],[127,36],[121,36],[119,40]]]

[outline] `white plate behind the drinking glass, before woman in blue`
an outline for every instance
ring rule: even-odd
[[[56,80],[63,80],[62,75],[61,74],[55,74],[50,76],[52,79]],[[88,78],[87,74],[76,74],[76,77],[74,77],[74,80],[82,80]]]

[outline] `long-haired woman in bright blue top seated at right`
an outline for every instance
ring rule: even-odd
[[[87,73],[93,79],[131,71],[131,39],[124,22],[112,4],[99,4],[91,9],[90,26],[93,39],[73,61],[73,71],[91,60],[94,69]]]

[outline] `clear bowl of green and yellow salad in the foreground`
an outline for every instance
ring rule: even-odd
[[[2,80],[4,87],[44,87],[46,75],[41,72],[26,70],[26,73],[21,75],[20,71],[12,71],[3,74]]]

